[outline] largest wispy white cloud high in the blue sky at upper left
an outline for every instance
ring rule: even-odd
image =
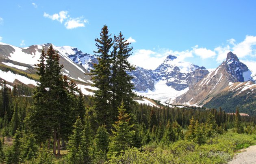
[[[44,13],[43,17],[52,19],[53,21],[63,22],[65,21],[64,25],[67,29],[74,29],[77,27],[85,27],[85,23],[89,23],[88,20],[84,19],[83,17],[72,18],[70,15],[67,14],[67,11],[60,11],[59,13],[49,15],[48,13]]]

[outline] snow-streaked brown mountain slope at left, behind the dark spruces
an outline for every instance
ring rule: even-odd
[[[16,47],[9,44],[0,42],[0,82],[3,80],[12,86],[14,83],[23,83],[26,85],[36,86],[35,64],[38,63],[42,49],[47,52],[50,44],[33,45],[29,47]],[[53,48],[58,51],[60,57],[60,64],[64,68],[62,74],[74,80],[78,87],[81,88],[82,93],[89,95],[92,94],[88,90],[96,89],[90,85],[93,84],[91,76],[88,75],[88,69],[91,69],[93,58],[89,58],[87,62],[81,61],[81,65],[72,61],[74,55],[86,57],[77,48],[70,46],[54,46]]]

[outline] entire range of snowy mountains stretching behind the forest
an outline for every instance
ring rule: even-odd
[[[0,83],[37,85],[35,64],[41,51],[48,50],[50,44],[33,45],[19,48],[0,42]],[[59,52],[60,63],[64,65],[62,74],[74,80],[82,93],[93,95],[91,76],[93,63],[98,57],[83,53],[71,46],[53,46]],[[184,62],[169,55],[155,70],[136,67],[130,72],[133,76],[135,92],[162,103],[197,105],[205,107],[219,106],[234,112],[236,107],[249,114],[256,114],[256,84],[252,71],[241,63],[232,52],[227,54],[214,71],[205,67]],[[254,77],[255,78],[255,77]]]

